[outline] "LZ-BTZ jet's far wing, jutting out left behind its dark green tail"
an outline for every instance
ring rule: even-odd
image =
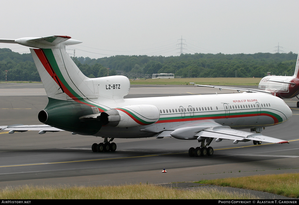
[[[58,129],[58,128],[51,127],[48,125],[22,125],[22,124],[0,126],[0,130],[2,130],[2,131],[9,130],[8,133],[10,133],[10,134],[13,134],[14,132],[25,132],[25,131],[29,131],[29,130],[39,131],[39,134],[44,134],[46,132],[64,131],[62,129]]]

